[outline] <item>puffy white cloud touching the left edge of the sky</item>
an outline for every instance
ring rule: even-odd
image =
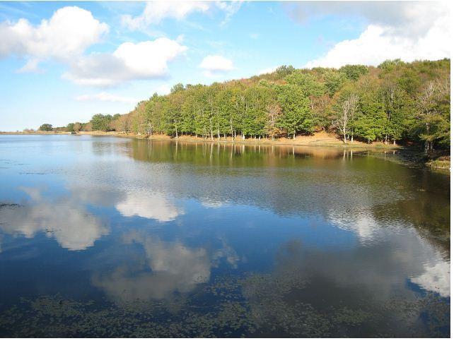
[[[80,56],[108,31],[109,26],[93,18],[90,11],[67,6],[39,25],[23,18],[16,23],[0,23],[0,56],[30,59],[21,71],[35,71],[38,61],[49,58],[66,61]]]

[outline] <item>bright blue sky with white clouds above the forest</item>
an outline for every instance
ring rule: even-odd
[[[450,14],[436,1],[0,1],[0,131],[280,65],[450,58]]]

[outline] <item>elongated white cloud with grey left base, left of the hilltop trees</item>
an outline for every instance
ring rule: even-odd
[[[186,50],[187,47],[164,37],[137,44],[124,42],[112,54],[81,57],[63,77],[78,85],[100,87],[128,80],[163,78],[168,73],[168,62]]]

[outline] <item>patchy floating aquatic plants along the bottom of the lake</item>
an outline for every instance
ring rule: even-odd
[[[0,315],[0,335],[8,337],[244,337],[347,336],[354,330],[366,336],[402,336],[390,324],[407,323],[407,336],[449,333],[449,304],[438,295],[392,299],[384,306],[353,309],[330,306],[315,309],[295,299],[304,289],[298,274],[249,274],[220,277],[187,297],[180,309],[134,301],[99,305],[94,301],[63,299],[60,295],[22,299]],[[206,302],[210,302],[207,304]],[[422,325],[415,320],[424,320]],[[373,325],[387,325],[378,333]]]

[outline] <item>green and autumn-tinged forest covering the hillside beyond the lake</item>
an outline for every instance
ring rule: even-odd
[[[295,138],[318,131],[344,143],[450,145],[450,59],[384,61],[377,67],[346,65],[296,69],[211,85],[173,86],[153,94],[128,114],[95,114],[40,130],[121,131],[207,140]]]

